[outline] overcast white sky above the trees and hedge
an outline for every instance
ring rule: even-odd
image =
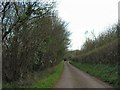
[[[80,49],[85,42],[85,31],[94,30],[97,36],[117,23],[119,0],[57,0],[58,15],[69,23],[70,50]],[[89,34],[88,34],[89,35]]]

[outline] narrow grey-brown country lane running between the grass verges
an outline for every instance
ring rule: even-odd
[[[64,71],[55,88],[112,88],[110,85],[77,69],[68,61],[64,62]]]

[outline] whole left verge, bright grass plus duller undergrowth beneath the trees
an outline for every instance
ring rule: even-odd
[[[34,73],[31,78],[22,81],[7,83],[3,89],[7,88],[53,88],[63,71],[63,62],[58,65],[45,69],[41,72]]]

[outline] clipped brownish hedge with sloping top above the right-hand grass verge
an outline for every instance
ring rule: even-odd
[[[117,64],[118,62],[118,39],[101,47],[77,55],[74,61],[90,64]]]

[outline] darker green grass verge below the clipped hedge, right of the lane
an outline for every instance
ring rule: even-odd
[[[93,75],[104,82],[111,84],[113,87],[118,88],[118,68],[117,65],[104,65],[104,64],[80,64],[77,62],[70,62],[75,67]]]

